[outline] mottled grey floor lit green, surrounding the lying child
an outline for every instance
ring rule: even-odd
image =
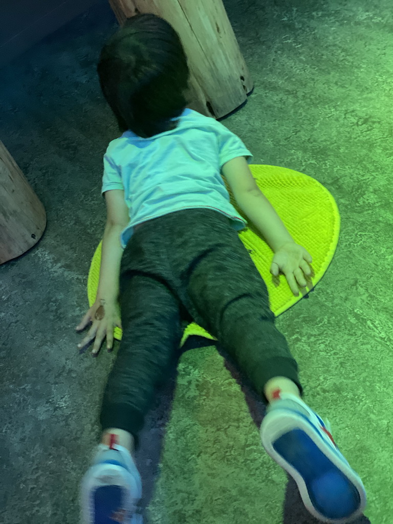
[[[299,363],[304,400],[329,418],[363,478],[367,517],[356,524],[390,524],[391,5],[224,4],[255,82],[224,125],[255,163],[308,174],[339,205],[329,270],[277,326]],[[74,327],[88,309],[105,225],[102,157],[118,136],[95,73],[115,27],[100,2],[0,71],[0,138],[48,217],[40,242],[0,266],[4,524],[77,523],[79,483],[100,438],[118,343],[97,359],[79,355]],[[201,347],[185,348],[140,435],[145,522],[315,523],[260,444],[261,400],[215,346],[192,343]]]

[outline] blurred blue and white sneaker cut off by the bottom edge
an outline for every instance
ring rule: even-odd
[[[80,498],[83,524],[143,524],[139,472],[132,455],[114,438],[110,446],[97,446],[93,465],[82,479]]]

